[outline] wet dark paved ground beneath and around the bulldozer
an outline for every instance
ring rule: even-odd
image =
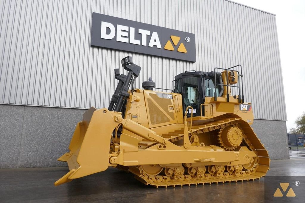
[[[305,151],[292,150],[287,160],[272,160],[267,176],[304,176]],[[105,172],[55,187],[68,169],[0,169],[0,202],[264,202],[264,178],[256,181],[154,188],[132,174]]]

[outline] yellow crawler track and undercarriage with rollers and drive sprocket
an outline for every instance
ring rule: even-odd
[[[184,129],[176,130],[163,134],[162,137],[168,138],[168,141],[172,143],[177,143],[183,140],[183,132]],[[205,125],[193,126],[188,137],[191,144],[199,148],[209,146],[213,151],[223,149],[224,153],[227,151],[253,151],[255,156],[245,155],[243,159],[247,163],[243,164],[238,161],[215,163],[213,158],[208,158],[195,163],[118,166],[118,168],[128,170],[135,174],[137,180],[154,187],[249,181],[259,179],[269,169],[266,149],[248,123],[242,122],[240,119],[217,120]],[[233,144],[228,144],[230,141],[238,143],[232,146]],[[143,141],[139,143],[139,149],[149,149],[156,144]],[[204,153],[204,151],[198,149],[198,153]]]

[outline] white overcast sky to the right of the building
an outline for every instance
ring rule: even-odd
[[[305,112],[305,0],[233,1],[276,15],[289,130]]]

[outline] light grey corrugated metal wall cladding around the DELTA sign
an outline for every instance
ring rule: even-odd
[[[113,69],[127,55],[142,67],[136,87],[186,70],[241,64],[245,98],[259,119],[286,119],[275,16],[226,0],[0,0],[0,103],[108,106]],[[196,63],[90,47],[91,13],[191,32]]]

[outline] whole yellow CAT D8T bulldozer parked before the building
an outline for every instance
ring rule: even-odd
[[[70,171],[56,186],[109,166],[154,187],[265,176],[270,160],[251,127],[252,105],[244,102],[240,65],[185,71],[172,81],[173,90],[167,90],[157,88],[151,78],[142,83],[143,89],[134,89],[141,67],[130,56],[121,62],[128,74],[115,69],[119,82],[109,107],[84,113],[70,152],[58,159]]]

